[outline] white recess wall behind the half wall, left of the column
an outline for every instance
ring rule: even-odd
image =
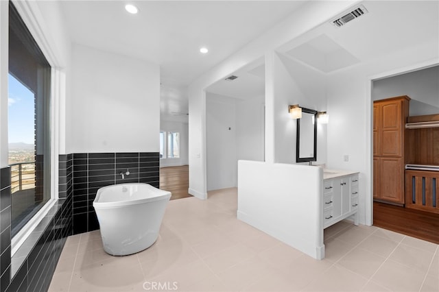
[[[263,161],[263,114],[263,96],[235,99],[207,93],[207,191],[237,186],[238,160]]]

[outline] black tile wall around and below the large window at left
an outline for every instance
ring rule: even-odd
[[[69,162],[70,160],[70,162]],[[10,218],[11,218],[11,194],[10,194],[10,169],[9,167],[0,170],[0,226],[1,226],[1,280],[0,291],[47,291],[51,278],[54,274],[58,258],[67,236],[72,233],[72,203],[73,189],[71,185],[71,175],[69,183],[68,165],[72,159],[69,156],[60,156],[60,172],[66,171],[66,175],[60,175],[59,184],[65,184],[65,191],[60,188],[59,199],[46,215],[34,232],[40,237],[34,242],[30,242],[34,236],[23,243],[30,245],[30,252],[21,261],[19,269],[11,275],[11,238],[10,238]],[[64,167],[64,165],[66,167]],[[70,167],[71,169],[72,167]],[[70,170],[71,172],[71,170]],[[64,180],[65,178],[65,180]],[[21,248],[22,248],[21,247]],[[16,252],[19,254],[20,250]],[[11,277],[13,277],[11,279]]]

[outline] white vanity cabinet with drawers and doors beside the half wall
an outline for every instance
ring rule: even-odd
[[[354,216],[358,225],[358,173],[333,173],[323,183],[323,228]]]

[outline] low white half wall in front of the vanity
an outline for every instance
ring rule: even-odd
[[[322,259],[322,188],[320,167],[239,160],[237,217]]]

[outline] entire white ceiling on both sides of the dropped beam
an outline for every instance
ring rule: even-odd
[[[123,9],[126,1],[62,1],[61,5],[73,42],[160,64],[162,118],[187,121],[186,115],[171,114],[188,112],[187,85],[306,1],[131,2],[139,14],[128,14]],[[306,58],[313,58],[303,50],[308,48],[314,56],[320,54],[320,64],[308,62],[310,68],[331,73],[421,42],[439,43],[438,3],[364,1],[368,14],[343,27],[322,23],[278,51],[307,64]],[[200,54],[202,46],[209,53]],[[294,50],[302,57],[295,56]],[[342,52],[338,60],[346,64],[324,64],[331,54],[335,60],[335,51]],[[233,74],[239,78],[219,80],[209,92],[241,99],[263,94],[263,60]]]

